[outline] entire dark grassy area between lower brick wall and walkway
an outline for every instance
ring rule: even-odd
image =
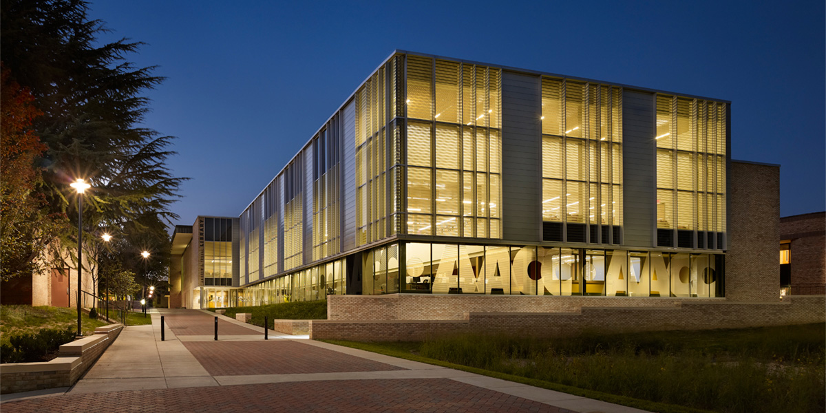
[[[330,342],[649,411],[826,409],[823,323],[573,339],[463,335],[423,343]]]

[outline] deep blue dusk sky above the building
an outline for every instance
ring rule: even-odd
[[[168,78],[173,206],[239,216],[392,50],[732,102],[732,158],[781,164],[781,215],[826,207],[824,2],[93,2]]]

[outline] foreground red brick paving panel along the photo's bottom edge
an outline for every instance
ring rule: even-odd
[[[288,382],[52,396],[2,404],[31,412],[558,412],[554,406],[446,378]]]

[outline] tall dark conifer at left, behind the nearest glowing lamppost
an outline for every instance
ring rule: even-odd
[[[74,178],[93,185],[83,199],[85,239],[103,229],[165,234],[178,217],[169,207],[185,178],[165,164],[173,137],[140,126],[149,110],[143,93],[163,80],[154,67],[135,68],[126,59],[141,43],[96,45],[107,29],[88,19],[82,0],[0,0],[0,6],[3,65],[42,112],[31,121],[46,146],[36,192],[62,224],[59,244],[76,260],[77,195],[68,186]]]

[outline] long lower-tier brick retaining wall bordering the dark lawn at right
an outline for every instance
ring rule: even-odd
[[[625,298],[625,301],[630,300]],[[310,338],[419,341],[463,333],[566,337],[590,331],[611,334],[705,330],[826,320],[824,296],[786,297],[783,301],[769,303],[684,300],[667,304],[581,306],[577,311],[466,312],[463,320],[312,320]],[[420,311],[426,311],[426,308]]]

